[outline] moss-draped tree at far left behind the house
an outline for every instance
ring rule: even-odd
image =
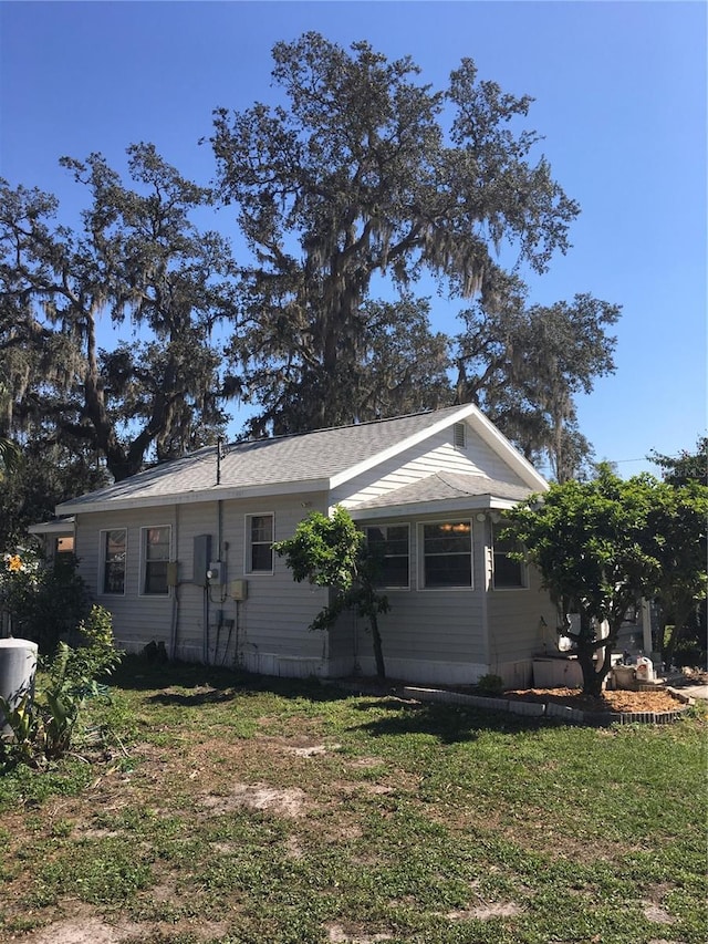
[[[90,195],[80,227],[55,225],[56,200],[0,181],[0,350],[7,353],[12,425],[25,436],[105,457],[116,479],[215,438],[220,355],[211,343],[231,312],[233,262],[190,215],[209,191],[186,180],[153,145],[127,151],[133,186],[98,154],[63,158]],[[129,331],[98,346],[110,319]]]

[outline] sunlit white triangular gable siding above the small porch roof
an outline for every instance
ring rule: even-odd
[[[524,485],[469,426],[466,448],[454,446],[450,427],[337,486],[332,490],[330,500],[332,505],[353,507],[419,481],[436,471],[479,474],[512,485]]]

